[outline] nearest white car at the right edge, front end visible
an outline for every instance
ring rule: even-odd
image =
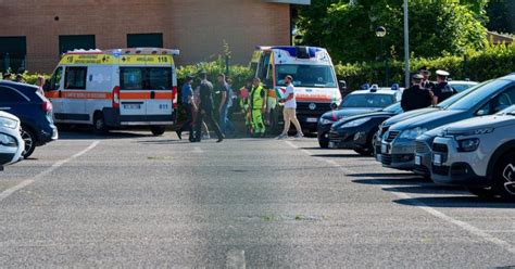
[[[449,125],[432,150],[436,183],[515,200],[515,106]]]

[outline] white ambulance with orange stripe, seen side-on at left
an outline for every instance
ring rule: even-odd
[[[75,50],[63,55],[45,86],[58,124],[97,132],[148,127],[163,134],[176,121],[178,50]]]

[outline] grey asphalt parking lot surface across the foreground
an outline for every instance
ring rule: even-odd
[[[316,139],[61,137],[0,172],[2,267],[515,267],[515,204]]]

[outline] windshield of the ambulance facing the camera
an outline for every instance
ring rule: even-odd
[[[296,87],[336,88],[336,77],[329,65],[277,65],[277,86],[286,86],[285,77],[293,77]]]

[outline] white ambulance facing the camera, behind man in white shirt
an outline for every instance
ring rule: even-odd
[[[316,47],[258,47],[252,55],[252,73],[268,89],[268,107],[277,106],[287,75],[293,77],[297,115],[302,129],[316,131],[321,116],[341,103],[335,67],[326,49]],[[273,121],[280,123],[279,110],[273,110]],[[274,124],[272,124],[274,125]]]

